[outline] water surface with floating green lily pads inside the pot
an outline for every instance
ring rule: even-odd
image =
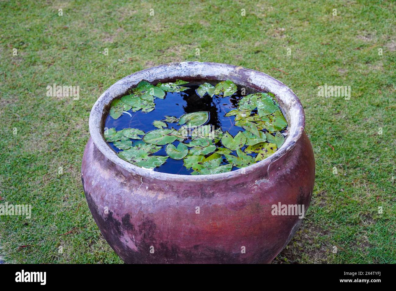
[[[284,143],[287,121],[273,94],[248,95],[230,80],[152,85],[142,80],[111,103],[104,137],[145,169],[208,175],[247,167]]]

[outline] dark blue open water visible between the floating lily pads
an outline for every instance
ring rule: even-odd
[[[207,80],[204,82],[208,82]],[[203,84],[204,82],[199,82],[198,84]],[[212,82],[211,82],[212,83]],[[217,84],[216,82],[212,84]],[[142,112],[141,110],[137,112],[132,112],[132,109],[128,112],[131,114],[122,114],[118,119],[114,120],[110,115],[107,116],[105,121],[105,128],[115,127],[117,131],[122,130],[124,128],[138,128],[146,133],[148,131],[158,129],[153,126],[152,123],[155,120],[163,120],[165,116],[176,116],[180,118],[185,113],[197,112],[197,111],[208,111],[209,112],[209,120],[205,124],[211,124],[214,126],[214,129],[221,128],[222,131],[228,131],[231,135],[235,136],[238,131],[244,131],[242,127],[238,127],[234,125],[235,116],[225,117],[224,115],[232,109],[236,109],[238,107],[238,101],[242,99],[247,94],[256,93],[257,91],[253,91],[250,88],[246,89],[245,95],[242,95],[241,88],[238,86],[238,91],[231,96],[221,97],[214,95],[210,97],[209,95],[205,95],[203,98],[199,97],[196,94],[196,89],[198,85],[183,85],[184,87],[188,87],[187,90],[183,92],[167,92],[164,99],[156,98],[154,99],[155,109],[151,112]],[[257,112],[257,110],[253,110],[253,113]],[[175,123],[168,123],[168,127],[174,127],[175,129],[179,129],[181,126]],[[213,128],[213,127],[212,127]],[[137,140],[133,140],[136,142]],[[185,140],[184,143],[188,143],[189,139]],[[173,145],[177,146],[179,141],[173,142]],[[116,148],[113,143],[109,143],[111,148],[115,152],[120,152],[121,150]],[[221,142],[217,143],[218,146],[222,146]],[[165,152],[166,145],[162,146],[162,148],[155,153],[156,156],[167,156]],[[244,150],[246,146],[242,147]],[[233,151],[232,154],[236,155],[236,152]],[[209,154],[210,155],[210,154]],[[257,154],[249,154],[255,157]],[[228,164],[226,160],[223,160],[222,164]],[[232,170],[238,169],[237,167],[233,167]],[[174,160],[172,158],[168,158],[164,164],[160,167],[156,167],[154,171],[162,172],[162,173],[170,173],[170,174],[179,174],[179,175],[189,175],[193,170],[186,169],[183,165],[183,160]]]

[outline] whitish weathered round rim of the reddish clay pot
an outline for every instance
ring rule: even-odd
[[[211,80],[230,79],[240,86],[252,87],[254,89],[274,93],[278,103],[286,114],[286,119],[289,123],[285,143],[274,154],[263,161],[235,171],[212,175],[177,175],[161,173],[137,167],[121,158],[118,158],[116,153],[112,148],[110,148],[103,137],[104,122],[109,112],[111,101],[124,95],[126,91],[135,87],[141,80],[147,80],[155,84],[156,82],[166,82],[169,80],[183,78]],[[97,99],[92,107],[91,113],[89,114],[89,132],[93,143],[102,152],[102,154],[114,164],[141,177],[180,182],[232,179],[252,173],[262,167],[269,167],[272,162],[278,160],[295,146],[295,143],[303,134],[304,127],[305,114],[303,106],[293,91],[291,91],[291,89],[289,89],[285,84],[256,70],[209,62],[169,63],[141,70],[126,76],[110,86],[109,89],[107,89],[99,99]]]

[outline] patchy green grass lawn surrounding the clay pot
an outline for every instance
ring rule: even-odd
[[[128,74],[212,61],[270,74],[305,108],[314,193],[302,227],[274,262],[395,263],[394,2],[183,3],[0,2],[1,203],[33,207],[31,219],[0,217],[0,256],[10,263],[122,262],[81,186],[89,111]],[[105,48],[109,55],[100,53]],[[80,99],[47,97],[53,83],[80,86]],[[351,86],[350,100],[318,97],[325,83]]]

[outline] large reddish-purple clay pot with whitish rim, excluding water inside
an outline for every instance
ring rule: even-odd
[[[230,79],[274,93],[289,123],[285,143],[261,162],[215,175],[159,173],[118,158],[103,138],[111,101],[141,80],[175,79]],[[127,263],[268,263],[302,221],[273,215],[272,205],[304,205],[307,211],[310,203],[315,162],[304,126],[297,96],[255,70],[183,62],[131,74],[107,89],[89,116],[81,175],[93,218]]]

